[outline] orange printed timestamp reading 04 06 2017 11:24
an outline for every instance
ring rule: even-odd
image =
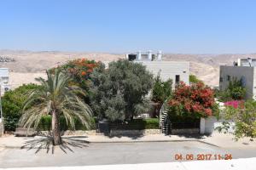
[[[177,161],[231,160],[231,154],[175,154]]]

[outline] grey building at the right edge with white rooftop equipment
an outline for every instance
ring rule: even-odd
[[[219,69],[219,89],[228,88],[233,78],[241,80],[246,88],[246,99],[256,99],[256,59],[238,59],[233,65],[221,65]]]

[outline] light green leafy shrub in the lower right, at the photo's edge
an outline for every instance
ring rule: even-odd
[[[248,137],[253,140],[256,138],[256,101],[248,100],[238,108],[226,106],[224,119],[235,122],[236,139]],[[229,127],[230,122],[223,122],[223,127],[218,127],[218,130],[227,133]]]

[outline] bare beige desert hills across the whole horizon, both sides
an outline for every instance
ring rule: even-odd
[[[96,59],[108,64],[109,61],[124,59],[125,54],[0,50],[0,57],[7,58],[0,65],[9,68],[10,84],[15,88],[22,83],[35,82],[35,77],[45,77],[46,69],[70,59]],[[163,60],[189,61],[192,74],[210,86],[218,86],[219,65],[232,65],[238,58],[247,57],[256,58],[256,54],[164,54]]]

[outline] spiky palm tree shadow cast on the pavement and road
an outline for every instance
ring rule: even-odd
[[[38,139],[32,139],[26,141],[23,146],[20,147],[21,150],[36,150],[35,154],[37,154],[41,150],[46,150],[48,154],[50,151],[52,154],[55,153],[56,147],[59,147],[65,154],[70,152],[74,152],[73,148],[86,148],[89,147],[87,140],[84,136],[75,136],[75,137],[63,137],[61,138],[62,144],[54,145],[53,144],[53,137],[49,135],[42,135]]]

